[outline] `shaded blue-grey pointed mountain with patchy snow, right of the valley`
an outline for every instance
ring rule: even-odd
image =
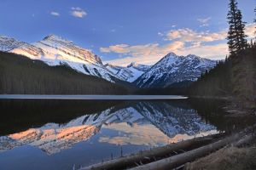
[[[216,60],[203,59],[189,54],[167,54],[134,82],[140,88],[160,88],[175,82],[195,81],[217,64]]]

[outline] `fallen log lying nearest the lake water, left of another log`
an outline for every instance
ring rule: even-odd
[[[125,167],[134,167],[137,164],[147,163],[150,161],[155,161],[154,159],[160,159],[166,156],[173,155],[173,152],[180,152],[180,150],[191,150],[198,148],[205,144],[210,144],[213,141],[224,136],[224,133],[212,134],[206,137],[200,137],[195,139],[188,139],[178,142],[176,144],[167,144],[166,146],[153,148],[151,150],[144,150],[140,153],[120,157],[115,160],[105,161],[102,163],[97,163],[90,167],[82,167],[80,170],[107,170],[107,169],[121,169]]]

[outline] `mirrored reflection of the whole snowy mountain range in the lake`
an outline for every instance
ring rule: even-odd
[[[150,136],[145,127],[150,127],[153,128],[156,136],[162,136],[166,140],[172,140],[177,135],[184,135],[184,138],[187,138],[215,129],[214,126],[206,124],[191,108],[177,107],[172,103],[161,101],[128,102],[109,107],[107,110],[95,114],[79,116],[67,123],[49,122],[42,127],[29,128],[20,133],[2,136],[0,137],[0,150],[11,150],[17,146],[29,144],[51,155],[71,148],[73,144],[92,138],[100,133],[102,128],[114,129],[123,123],[131,129],[128,133],[126,129],[128,127],[124,127],[124,129],[119,129],[119,132],[128,133],[126,137],[130,138],[131,141],[137,133],[135,132],[136,128],[141,128],[140,133],[143,135],[146,133],[144,138]],[[102,142],[114,144],[117,141],[125,144],[126,140],[123,135],[119,136],[119,140],[117,137],[111,139],[106,138],[106,136],[101,139]],[[143,141],[143,139],[140,140]]]

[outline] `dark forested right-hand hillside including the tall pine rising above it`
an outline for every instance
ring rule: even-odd
[[[236,0],[230,0],[227,35],[230,55],[189,88],[192,96],[229,96],[236,105],[256,108],[256,44],[247,42],[245,22]],[[256,12],[256,10],[255,10]],[[256,31],[256,29],[255,29]]]

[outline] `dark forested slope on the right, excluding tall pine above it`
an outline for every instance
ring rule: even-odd
[[[191,96],[232,97],[238,105],[256,106],[256,46],[219,62],[189,87]]]

